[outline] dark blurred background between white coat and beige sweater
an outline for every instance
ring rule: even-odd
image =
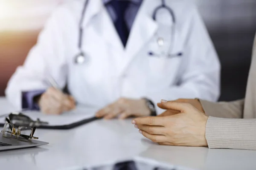
[[[244,97],[256,34],[256,0],[195,0],[221,61],[222,101]]]

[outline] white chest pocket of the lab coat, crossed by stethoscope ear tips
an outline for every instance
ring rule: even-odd
[[[160,33],[162,32],[164,31],[160,31]],[[158,77],[156,78],[158,80],[170,79],[170,77],[175,79],[180,62],[184,57],[183,41],[177,41],[179,35],[177,31],[172,35],[173,38],[169,34],[164,36],[160,33],[154,35],[148,43],[149,69],[151,75]],[[161,42],[158,42],[161,37],[164,37],[162,46]],[[152,52],[150,53],[150,51]]]

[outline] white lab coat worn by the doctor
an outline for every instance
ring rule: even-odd
[[[166,0],[176,17],[172,54],[182,57],[149,57],[157,49],[157,37],[170,42],[171,16],[161,10],[152,19],[161,0],[143,0],[134,20],[126,48],[123,48],[102,0],[90,0],[84,16],[82,50],[86,62],[74,63],[79,53],[79,20],[84,0],[73,0],[52,14],[6,89],[6,96],[21,108],[21,92],[47,89],[51,75],[80,104],[104,107],[120,97],[160,99],[201,98],[216,101],[219,96],[220,64],[196,7],[189,0]],[[158,113],[162,110],[157,108]]]

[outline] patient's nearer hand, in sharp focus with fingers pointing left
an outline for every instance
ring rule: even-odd
[[[208,116],[188,103],[162,101],[164,108],[180,113],[171,116],[142,117],[134,127],[153,142],[175,146],[207,146],[205,127]]]

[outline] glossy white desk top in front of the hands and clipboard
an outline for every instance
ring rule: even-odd
[[[0,108],[0,114],[12,110],[4,98]],[[131,119],[97,120],[71,130],[37,129],[36,135],[49,144],[0,152],[0,169],[75,170],[136,156],[195,170],[256,169],[256,151],[161,146],[138,133]]]

